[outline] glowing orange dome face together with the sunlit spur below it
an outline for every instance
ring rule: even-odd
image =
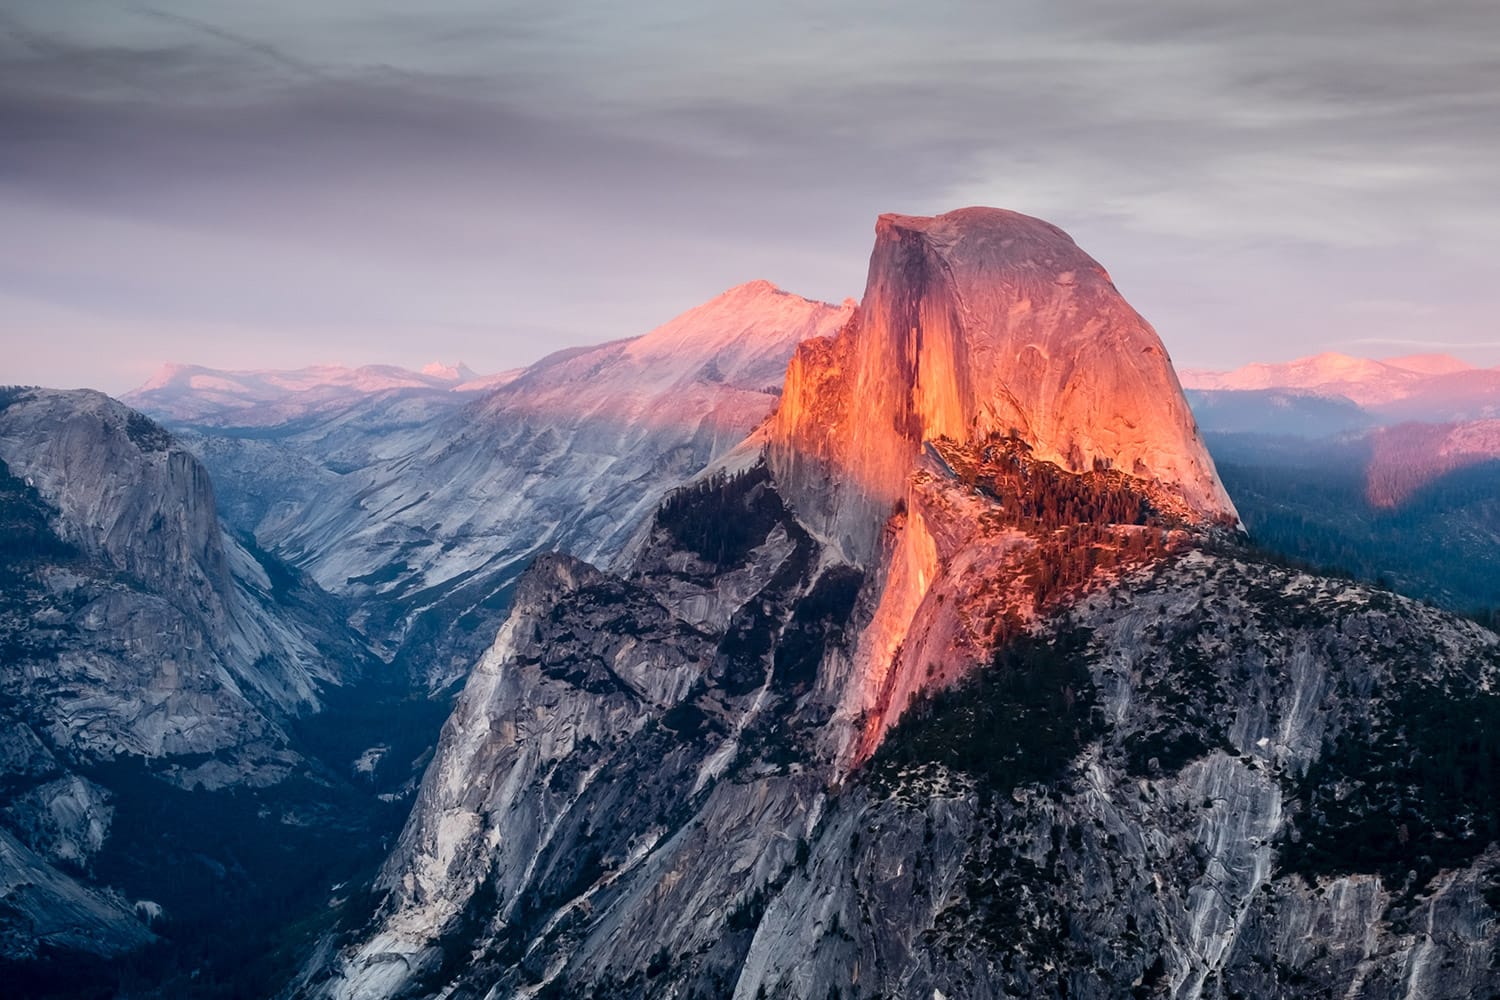
[[[1065,232],[998,208],[880,216],[860,312],[802,346],[766,435],[804,523],[882,579],[844,684],[843,717],[862,720],[852,760],[993,639],[957,628],[954,607],[970,622],[1032,613],[980,586],[1017,576],[1014,543],[951,504],[934,520],[924,472],[939,471],[924,442],[993,435],[1066,472],[1137,477],[1188,520],[1238,520],[1161,340]]]

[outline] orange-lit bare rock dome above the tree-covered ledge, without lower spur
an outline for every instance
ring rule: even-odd
[[[777,481],[868,561],[922,441],[1011,430],[1065,469],[1101,460],[1236,517],[1155,330],[1068,234],[999,208],[880,216],[856,318],[788,372]]]

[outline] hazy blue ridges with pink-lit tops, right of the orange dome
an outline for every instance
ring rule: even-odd
[[[1322,354],[1184,382],[1260,544],[1456,612],[1500,604],[1500,369]]]

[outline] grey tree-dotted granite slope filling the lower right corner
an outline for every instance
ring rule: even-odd
[[[1496,643],[1233,556],[1126,579],[888,738],[734,996],[1488,996]]]

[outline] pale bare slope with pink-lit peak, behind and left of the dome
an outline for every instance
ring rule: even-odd
[[[526,562],[624,549],[663,492],[771,412],[796,345],[848,310],[752,282],[644,337],[555,354],[414,427],[405,451],[338,477],[262,543],[387,609],[360,627],[393,655],[420,648],[412,669],[447,684],[494,636]]]

